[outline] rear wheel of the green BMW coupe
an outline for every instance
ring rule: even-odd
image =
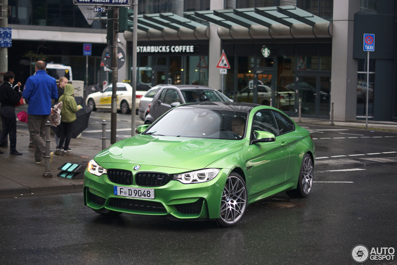
[[[306,198],[313,184],[313,161],[309,154],[303,157],[301,171],[299,172],[298,185],[296,189],[286,191],[289,197]]]

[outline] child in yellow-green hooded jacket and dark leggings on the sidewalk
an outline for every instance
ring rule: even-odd
[[[69,143],[74,129],[74,121],[76,120],[76,112],[81,109],[81,105],[77,105],[75,98],[73,97],[74,88],[72,84],[67,84],[65,86],[64,94],[59,98],[62,101],[61,109],[61,135],[59,138],[59,145],[57,146],[57,151],[61,152],[62,156],[73,156],[73,153],[68,151]],[[64,149],[62,150],[62,144],[64,144]]]

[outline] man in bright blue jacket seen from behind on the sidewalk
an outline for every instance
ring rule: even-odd
[[[37,61],[35,68],[36,74],[27,79],[22,95],[28,103],[28,129],[36,145],[35,162],[40,164],[46,153],[45,124],[51,114],[51,99],[58,98],[58,89],[55,78],[46,73],[45,62]],[[53,154],[51,152],[50,161]]]

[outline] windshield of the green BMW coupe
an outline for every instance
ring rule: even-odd
[[[241,140],[247,113],[213,109],[177,108],[150,126],[144,134]]]

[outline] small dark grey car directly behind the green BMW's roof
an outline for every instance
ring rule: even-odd
[[[150,104],[145,124],[153,123],[158,117],[183,103],[226,100],[231,101],[221,92],[208,86],[164,85],[158,89]]]

